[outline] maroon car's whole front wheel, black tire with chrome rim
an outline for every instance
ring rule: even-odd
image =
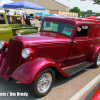
[[[52,89],[55,81],[55,73],[52,69],[44,69],[30,84],[31,91],[36,97],[43,97]]]

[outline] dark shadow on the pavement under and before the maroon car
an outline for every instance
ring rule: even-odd
[[[70,80],[72,80],[73,78],[85,73],[87,70],[82,70],[80,72],[78,72],[77,74],[71,76],[71,77],[64,77],[63,75],[61,75],[60,73],[56,73],[56,79],[55,79],[55,84],[54,87],[57,87],[59,85],[62,85]],[[7,82],[6,80],[0,78],[0,93],[15,93],[17,94],[17,92],[19,93],[28,93],[28,96],[0,96],[0,100],[37,100],[39,98],[35,98],[29,88],[28,84],[22,84],[16,83],[16,80],[12,79],[10,82]],[[40,98],[41,99],[41,98]]]

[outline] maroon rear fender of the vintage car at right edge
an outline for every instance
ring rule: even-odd
[[[100,45],[95,45],[94,49],[90,53],[88,61],[95,63],[95,60],[99,51],[100,51]]]

